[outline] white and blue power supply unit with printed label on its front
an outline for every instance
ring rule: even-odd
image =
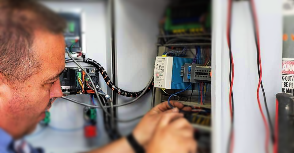
[[[154,67],[154,87],[183,90],[190,83],[183,82],[182,67],[185,63],[192,63],[193,58],[156,57]],[[191,90],[190,87],[188,90]]]

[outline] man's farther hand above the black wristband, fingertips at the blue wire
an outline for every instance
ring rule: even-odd
[[[150,110],[139,122],[136,128],[133,131],[133,135],[137,142],[142,145],[146,146],[151,136],[154,133],[156,125],[160,121],[160,119],[167,113],[178,113],[179,110],[184,111],[191,111],[191,107],[184,107],[182,103],[176,101],[170,101],[171,105],[175,108],[171,109],[168,105],[168,102],[160,103],[159,105],[155,106],[152,110]]]

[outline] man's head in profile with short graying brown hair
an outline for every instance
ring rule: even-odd
[[[0,128],[32,132],[62,96],[65,21],[33,0],[0,0]]]

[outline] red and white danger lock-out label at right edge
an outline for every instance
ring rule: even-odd
[[[282,92],[292,94],[294,89],[294,59],[282,62]]]

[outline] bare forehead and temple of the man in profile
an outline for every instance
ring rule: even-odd
[[[65,42],[62,34],[36,31],[33,49],[40,57],[47,75],[59,73],[65,66]]]

